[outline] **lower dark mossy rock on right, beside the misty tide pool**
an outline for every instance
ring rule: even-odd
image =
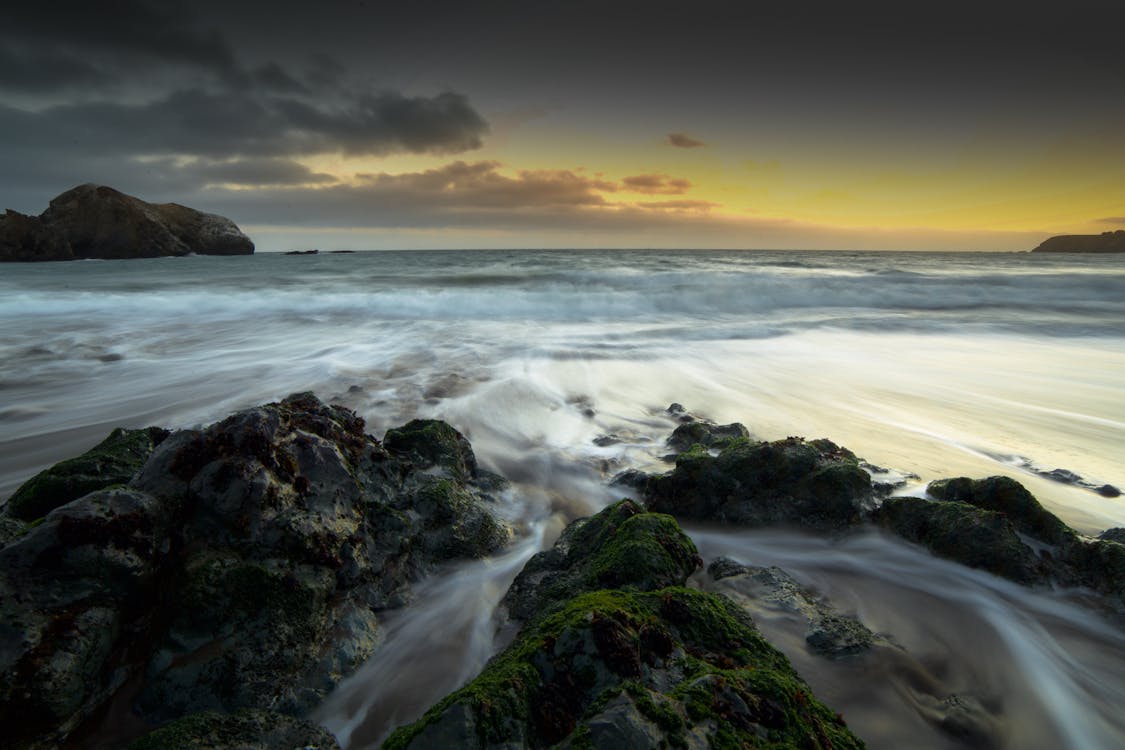
[[[1038,555],[1002,513],[968,503],[892,497],[873,514],[876,523],[943,558],[1020,584],[1046,579]]]

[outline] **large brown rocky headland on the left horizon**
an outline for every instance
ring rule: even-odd
[[[166,255],[250,255],[254,243],[228,218],[179,204],[150,204],[81,184],[38,216],[0,216],[0,262]]]

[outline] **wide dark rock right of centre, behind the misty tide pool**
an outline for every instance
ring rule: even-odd
[[[839,531],[872,501],[871,477],[827,440],[730,441],[718,457],[693,448],[645,489],[650,510],[745,526],[788,524]]]

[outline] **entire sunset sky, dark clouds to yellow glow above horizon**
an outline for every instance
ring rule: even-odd
[[[1120,2],[22,2],[0,207],[260,251],[982,250],[1125,228]]]

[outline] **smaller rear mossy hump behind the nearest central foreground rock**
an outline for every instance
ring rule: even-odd
[[[678,586],[700,564],[675,518],[620,500],[575,521],[554,548],[529,560],[504,603],[512,616],[528,620],[586,591]]]

